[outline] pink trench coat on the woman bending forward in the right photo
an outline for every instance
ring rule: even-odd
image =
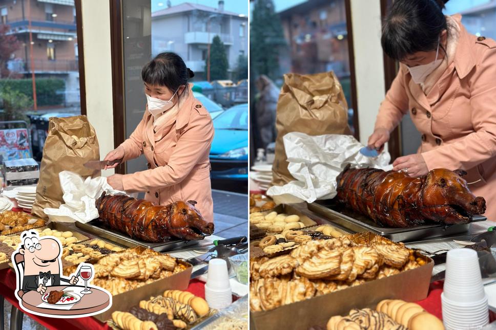
[[[409,112],[427,168],[467,171],[467,183],[477,181],[470,190],[486,200],[484,215],[496,221],[496,41],[460,27],[454,60],[427,95],[400,65],[375,127],[391,131]]]

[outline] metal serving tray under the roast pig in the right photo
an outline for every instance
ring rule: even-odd
[[[346,209],[334,200],[316,201],[312,204],[308,204],[308,209],[352,232],[359,233],[371,231],[397,242],[421,241],[433,238],[449,237],[467,232],[471,225],[428,224],[407,228],[384,228],[378,226],[370,218],[353,210]],[[485,216],[474,215],[472,222],[484,220],[486,220]]]

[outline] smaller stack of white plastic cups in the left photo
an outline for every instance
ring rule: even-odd
[[[228,264],[223,259],[209,261],[209,272],[205,284],[205,300],[216,310],[224,309],[233,302]]]

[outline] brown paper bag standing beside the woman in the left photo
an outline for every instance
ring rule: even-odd
[[[31,213],[48,219],[43,209],[58,208],[64,203],[58,173],[67,170],[83,178],[98,177],[101,175],[100,170],[83,166],[86,162],[95,160],[100,160],[100,148],[95,129],[86,116],[50,118],[36,187],[36,200]]]

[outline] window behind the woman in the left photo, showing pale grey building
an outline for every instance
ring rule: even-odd
[[[143,93],[141,68],[150,60],[150,54],[157,55],[162,52],[174,51],[191,69],[195,76],[191,82],[195,85],[195,92],[202,93],[206,98],[220,104],[225,108],[234,105],[236,98],[235,87],[214,87],[208,81],[210,67],[210,80],[232,80],[238,82],[247,79],[247,57],[244,64],[239,60],[240,50],[248,49],[247,14],[249,4],[247,1],[230,2],[229,10],[219,13],[215,6],[216,1],[196,0],[192,6],[183,6],[180,2],[172,1],[171,8],[166,8],[165,1],[160,0],[123,0],[122,1],[122,49],[123,49],[123,102],[125,128],[122,136],[129,137],[143,117],[146,96]],[[161,5],[159,5],[161,4]],[[191,7],[194,7],[192,10]],[[210,7],[210,8],[208,8]],[[140,15],[136,15],[140,13]],[[148,19],[148,17],[152,19]],[[244,25],[242,25],[244,24]],[[242,25],[242,26],[240,26]],[[238,28],[239,27],[239,28]],[[150,31],[151,34],[147,33]],[[220,36],[223,47],[212,39]],[[225,56],[225,61],[211,61],[206,65],[209,57],[209,44],[211,51],[216,52],[214,57]],[[136,46],[139,47],[136,47]],[[219,63],[220,62],[220,63]],[[240,63],[241,62],[241,63]],[[246,70],[244,70],[246,68]],[[120,75],[120,73],[119,73]],[[224,90],[225,88],[225,90]],[[133,173],[147,168],[147,161],[143,158],[135,159],[126,164],[128,173]]]

